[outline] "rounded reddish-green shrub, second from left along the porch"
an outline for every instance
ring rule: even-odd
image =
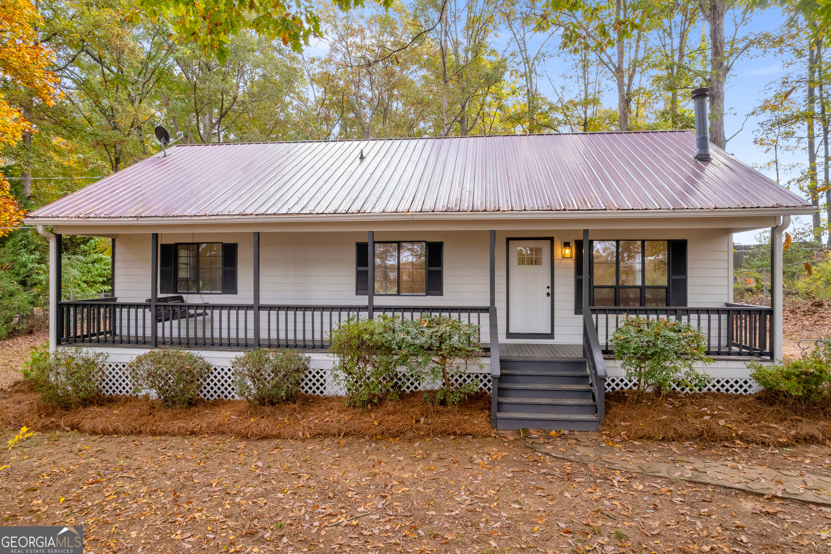
[[[133,392],[154,390],[165,408],[195,404],[212,369],[195,352],[165,347],[137,355],[127,364]]]

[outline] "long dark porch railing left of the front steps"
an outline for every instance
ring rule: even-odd
[[[480,326],[491,342],[489,308],[483,306],[375,306],[375,315],[415,319],[442,314]],[[366,318],[367,306],[259,306],[254,336],[251,304],[60,302],[58,341],[67,344],[327,349],[329,333],[350,317]],[[153,331],[155,326],[155,344]]]

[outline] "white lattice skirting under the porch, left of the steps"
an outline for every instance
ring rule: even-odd
[[[125,363],[106,362],[107,369],[106,379],[101,383],[101,391],[105,395],[131,395],[133,385],[126,373]],[[338,389],[329,375],[330,370],[311,369],[303,375],[303,380],[300,382],[300,390],[307,395],[342,395],[342,390]],[[466,383],[473,383],[479,380],[479,390],[484,390],[488,393],[491,391],[492,381],[488,373],[466,373],[457,375],[454,379],[455,385],[463,385]],[[399,376],[399,383],[401,390],[404,392],[416,392],[419,390],[435,390],[439,386],[435,383],[430,383],[425,380],[413,380],[401,374]],[[214,366],[208,379],[202,385],[202,390],[199,391],[199,397],[204,400],[236,400],[238,399],[237,391],[234,389],[234,375],[231,368],[218,365]]]

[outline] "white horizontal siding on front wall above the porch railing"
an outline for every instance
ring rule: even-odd
[[[554,238],[554,339],[561,344],[583,341],[583,321],[574,315],[574,260],[562,259],[562,243],[582,238],[576,230],[499,231],[496,235],[496,305],[500,341],[505,341],[506,239]],[[687,297],[696,307],[724,306],[730,301],[730,243],[725,229],[617,229],[593,231],[598,239],[684,239],[688,241]],[[375,297],[376,306],[488,306],[489,234],[485,231],[377,232],[376,241],[438,241],[444,249],[444,296]],[[238,294],[186,295],[188,302],[250,303],[253,292],[251,233],[163,233],[160,243],[238,243]],[[355,294],[355,243],[366,233],[262,233],[260,302],[277,305],[365,305]],[[116,296],[120,302],[150,297],[150,235],[116,238]],[[523,340],[515,340],[523,341]]]

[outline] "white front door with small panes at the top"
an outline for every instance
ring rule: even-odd
[[[508,332],[551,332],[551,241],[508,243]]]

